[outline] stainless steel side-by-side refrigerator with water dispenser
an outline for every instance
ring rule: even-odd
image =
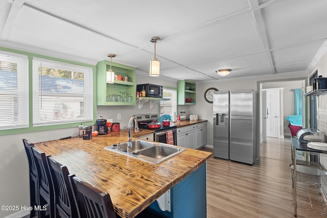
[[[214,157],[253,164],[256,159],[256,94],[214,92]]]

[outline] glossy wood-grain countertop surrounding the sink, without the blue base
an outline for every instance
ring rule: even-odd
[[[133,130],[132,135],[151,132]],[[115,212],[122,217],[134,217],[212,157],[212,153],[187,149],[159,164],[150,164],[104,149],[127,141],[127,137],[124,130],[90,140],[73,137],[39,142],[35,147],[66,165],[69,173],[108,192]]]

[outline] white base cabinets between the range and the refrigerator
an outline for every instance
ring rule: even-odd
[[[206,144],[206,122],[177,128],[177,146],[199,149]]]

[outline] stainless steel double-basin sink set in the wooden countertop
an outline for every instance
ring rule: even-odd
[[[128,152],[127,142],[120,144],[120,149],[116,144],[105,147],[106,150],[128,155],[152,164],[158,164],[170,157],[179,154],[186,149],[171,146],[170,144],[145,141],[141,139],[132,140],[132,150]]]

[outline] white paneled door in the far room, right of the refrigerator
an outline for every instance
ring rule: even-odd
[[[267,90],[267,137],[278,138],[279,89]]]

